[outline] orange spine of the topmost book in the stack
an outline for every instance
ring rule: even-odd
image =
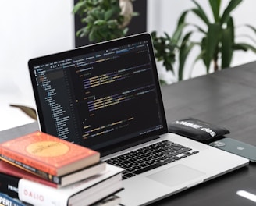
[[[0,147],[0,157],[2,159],[9,158],[12,161],[23,163],[24,165],[28,166],[28,169],[30,169],[30,167],[32,169],[38,169],[39,171],[47,172],[52,176],[55,176],[57,173],[56,170],[52,168],[52,166],[44,165],[42,162],[37,162],[37,160],[34,160],[32,158],[25,158],[22,154],[16,153],[15,151],[10,151],[5,147]]]

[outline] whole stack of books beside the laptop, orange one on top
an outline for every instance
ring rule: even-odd
[[[101,162],[87,147],[37,131],[0,144],[0,158],[0,205],[120,201],[114,194],[123,189],[123,169]]]

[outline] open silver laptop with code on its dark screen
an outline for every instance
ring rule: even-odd
[[[123,205],[151,204],[248,164],[168,133],[150,34],[30,59],[29,69],[41,131],[125,168]]]

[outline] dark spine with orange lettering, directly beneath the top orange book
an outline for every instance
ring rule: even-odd
[[[20,169],[24,169],[27,172],[31,172],[32,174],[40,176],[41,178],[44,178],[52,183],[55,183],[58,185],[61,184],[61,178],[59,178],[59,176],[53,176],[48,172],[41,171],[40,169],[36,169],[34,167],[31,167],[30,165],[26,165],[23,162],[19,162],[3,154],[0,154],[0,158],[5,162],[9,162],[10,164],[15,165],[16,167],[19,167]]]

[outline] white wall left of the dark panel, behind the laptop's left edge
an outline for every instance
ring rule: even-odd
[[[74,47],[73,0],[0,1],[0,130],[33,119],[9,104],[34,107],[27,62]]]

